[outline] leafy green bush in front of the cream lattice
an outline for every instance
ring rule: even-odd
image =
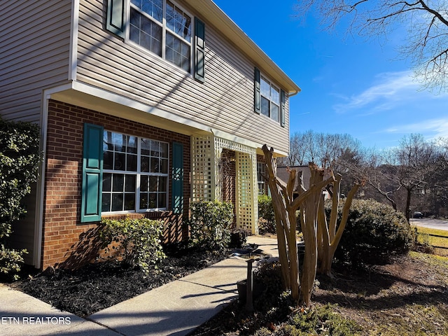
[[[219,249],[230,243],[233,204],[230,202],[198,201],[190,205],[190,241],[193,245]]]

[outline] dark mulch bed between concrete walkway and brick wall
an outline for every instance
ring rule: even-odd
[[[80,269],[42,272],[12,286],[81,317],[130,299],[165,283],[182,278],[228,257],[228,251],[183,250],[168,257],[149,272],[106,261]]]

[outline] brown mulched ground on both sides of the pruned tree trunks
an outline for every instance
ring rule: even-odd
[[[448,318],[448,280],[445,268],[430,265],[421,258],[398,256],[392,258],[387,265],[366,269],[346,269],[335,265],[334,274],[335,278],[317,277],[312,304],[336,304],[333,307],[339,314],[361,325],[364,330],[361,335],[392,335],[381,332],[370,334],[367,331],[381,323],[393,325],[395,322],[391,316],[402,316],[407,324],[417,325],[414,330],[420,330],[423,327],[419,323],[423,325],[424,321],[419,320],[425,320],[428,316],[420,317],[415,314],[412,309],[415,304],[423,307],[434,305]],[[272,286],[276,281],[281,281],[279,274],[273,273],[269,279],[271,286],[255,300],[254,313],[246,313],[241,302],[232,302],[188,336],[267,335],[266,332],[259,332],[262,327],[267,328],[272,335],[286,335],[279,327],[288,321],[288,316],[293,311],[288,307],[293,307],[294,304],[286,299],[282,300],[281,288]],[[428,335],[447,335],[443,321],[429,323],[434,325],[435,333]],[[279,332],[275,332],[277,328]],[[409,332],[405,335],[423,333]]]

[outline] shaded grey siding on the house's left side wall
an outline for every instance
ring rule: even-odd
[[[71,1],[0,2],[0,106],[38,123],[43,87],[69,76]]]

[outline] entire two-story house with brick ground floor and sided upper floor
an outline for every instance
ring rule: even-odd
[[[29,264],[94,257],[101,218],[185,239],[195,200],[232,200],[257,232],[261,147],[288,155],[300,88],[213,1],[2,0],[0,22],[0,115],[41,126],[13,237]]]

